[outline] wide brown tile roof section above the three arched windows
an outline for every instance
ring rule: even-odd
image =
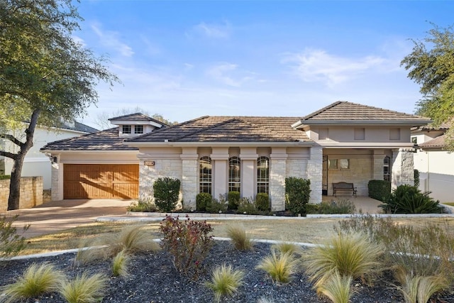
[[[295,142],[309,141],[292,128],[296,117],[202,116],[128,142]]]

